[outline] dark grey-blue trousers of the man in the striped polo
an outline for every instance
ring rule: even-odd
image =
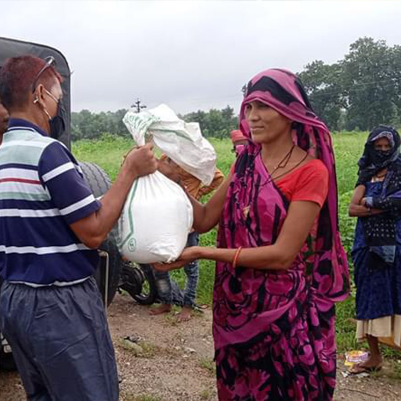
[[[117,401],[118,378],[93,278],[67,287],[4,282],[0,330],[29,401]]]

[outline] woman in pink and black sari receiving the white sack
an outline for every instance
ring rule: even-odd
[[[194,206],[194,228],[219,223],[213,336],[221,400],[332,399],[334,303],[348,294],[327,127],[298,78],[270,69],[247,86],[240,128],[249,143],[225,184]]]

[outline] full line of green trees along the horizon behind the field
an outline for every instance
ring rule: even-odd
[[[317,115],[330,130],[369,130],[378,124],[401,125],[401,46],[359,38],[342,60],[326,64],[315,60],[298,76]],[[71,114],[72,139],[93,139],[104,133],[129,136],[122,118],[126,109]],[[206,137],[225,138],[237,129],[238,118],[225,109],[193,111],[180,115],[198,122]]]

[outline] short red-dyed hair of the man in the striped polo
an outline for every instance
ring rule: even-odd
[[[26,105],[33,81],[45,63],[45,60],[29,55],[6,60],[0,70],[0,97],[8,110]],[[53,67],[49,67],[43,71],[36,85],[42,83],[50,90],[55,80],[61,83],[63,79]]]

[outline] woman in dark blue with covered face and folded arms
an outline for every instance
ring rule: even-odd
[[[379,338],[401,346],[401,157],[398,132],[378,126],[358,162],[349,214],[358,217],[352,259],[356,284],[356,337],[370,357],[352,371],[379,370]]]

